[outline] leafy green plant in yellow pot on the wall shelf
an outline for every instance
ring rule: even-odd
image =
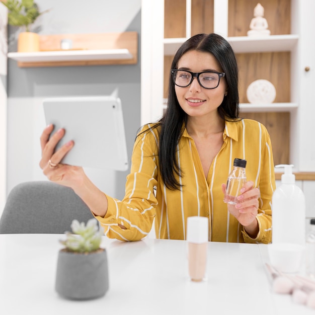
[[[34,0],[0,0],[8,8],[8,24],[24,27],[18,37],[18,51],[39,51],[39,35],[30,31],[30,26],[35,20],[48,10],[39,12]]]

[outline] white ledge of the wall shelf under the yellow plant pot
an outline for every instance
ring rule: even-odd
[[[20,62],[54,62],[74,60],[132,59],[128,49],[57,50],[35,52],[9,52],[8,58]]]

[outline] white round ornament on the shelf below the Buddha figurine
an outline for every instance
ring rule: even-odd
[[[269,104],[276,98],[276,89],[267,80],[256,80],[248,86],[246,95],[252,104]]]

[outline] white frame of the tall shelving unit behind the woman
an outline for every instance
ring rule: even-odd
[[[271,3],[273,0],[269,0]],[[164,38],[164,0],[154,4],[142,1],[142,47],[154,46],[143,51],[146,59],[141,61],[141,123],[156,121],[165,108],[164,57],[174,55],[178,47],[191,36],[191,8],[193,1],[186,0],[185,38]],[[313,0],[291,0],[291,34],[270,35],[253,38],[248,36],[228,37],[228,0],[214,0],[215,33],[225,37],[235,53],[290,52],[290,103],[240,104],[242,112],[290,112],[290,163],[298,172],[315,172],[315,142],[313,134],[315,117],[313,84],[315,82],[315,42],[313,29],[315,12]],[[267,6],[268,3],[265,4]],[[146,32],[147,30],[147,32]],[[149,32],[149,33],[148,33]],[[309,69],[309,70],[308,70]],[[281,74],[280,74],[281,75]],[[278,89],[277,93],[281,93]]]

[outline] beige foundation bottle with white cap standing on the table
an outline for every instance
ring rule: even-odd
[[[188,269],[192,281],[202,281],[206,274],[207,248],[209,242],[208,218],[187,218]]]

